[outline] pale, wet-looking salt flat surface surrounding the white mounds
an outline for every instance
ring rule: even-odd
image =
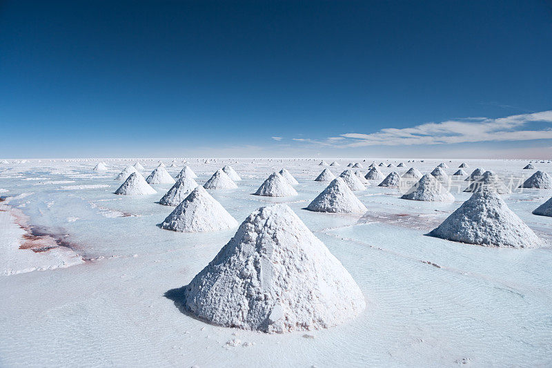
[[[373,160],[386,164],[384,175],[411,166],[429,173],[444,161],[338,159],[328,167],[339,175],[362,162],[367,173]],[[99,160],[0,164],[0,189],[7,190],[0,190],[1,367],[552,365],[551,247],[499,249],[424,236],[469,198],[465,177],[450,176],[453,203],[402,200],[397,188],[371,182],[354,192],[368,209],[361,217],[304,210],[328,184],[314,181],[321,159],[188,159],[199,185],[226,164],[242,177],[237,189],[209,191],[240,223],[260,206],[288,204],[364,293],[366,309],[344,325],[266,334],[208,325],[177,307],[175,290],[236,229],[159,229],[174,207],[156,202],[171,184],[153,185],[155,195],[115,195],[121,182],[113,179],[137,159],[103,161],[107,171],[92,171]],[[172,177],[184,166],[163,161]],[[446,173],[464,161],[444,161]],[[159,159],[139,162],[147,177]],[[386,167],[399,162],[404,167]],[[513,188],[534,172],[521,160],[466,163],[466,172],[492,170]],[[552,164],[533,165],[552,173]],[[299,181],[299,195],[252,195],[282,167]],[[550,244],[552,217],[531,211],[551,196],[524,188],[503,198]],[[28,241],[39,251],[18,249]]]

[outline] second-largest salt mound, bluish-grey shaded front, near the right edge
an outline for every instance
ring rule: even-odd
[[[542,244],[500,195],[488,189],[473,193],[428,235],[484,246],[531,248]]]

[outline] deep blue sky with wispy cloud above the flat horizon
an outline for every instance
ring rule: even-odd
[[[0,157],[549,156],[551,65],[550,1],[6,0]]]

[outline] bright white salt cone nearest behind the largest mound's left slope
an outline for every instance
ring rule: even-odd
[[[237,226],[237,221],[215,198],[202,187],[186,197],[161,224],[161,229],[181,233],[203,233],[226,230]]]

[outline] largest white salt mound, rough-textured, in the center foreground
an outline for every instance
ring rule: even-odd
[[[365,307],[362,291],[291,209],[257,209],[192,282],[184,307],[224,327],[284,333],[339,325]]]

